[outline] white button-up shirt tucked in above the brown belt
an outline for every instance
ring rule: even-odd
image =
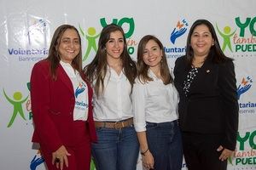
[[[131,84],[123,71],[118,75],[108,66],[103,93],[99,97],[96,93],[93,95],[93,116],[99,122],[117,122],[133,117]]]

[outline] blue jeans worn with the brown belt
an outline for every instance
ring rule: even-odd
[[[100,127],[96,133],[92,156],[97,170],[136,170],[139,144],[133,126],[119,130]]]

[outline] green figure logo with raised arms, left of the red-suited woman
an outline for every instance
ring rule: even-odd
[[[30,90],[29,82],[27,83],[27,88],[28,90]],[[3,88],[3,96],[9,102],[9,105],[12,106],[12,112],[7,113],[10,115],[7,127],[11,127],[17,117],[21,117],[24,121],[26,121],[27,119],[32,120],[31,100],[29,98],[29,95],[24,98],[23,94],[20,91],[16,91],[12,95],[13,97],[10,97],[10,94],[7,94]],[[28,112],[27,115],[24,113],[24,107],[26,107],[26,111]]]

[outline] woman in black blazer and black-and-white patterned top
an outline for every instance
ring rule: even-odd
[[[236,148],[238,102],[232,60],[221,51],[212,24],[196,20],[186,55],[176,60],[174,68],[189,170],[224,170]]]

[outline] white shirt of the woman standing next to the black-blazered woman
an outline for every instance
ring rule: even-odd
[[[165,85],[148,69],[153,81],[142,83],[136,79],[133,87],[132,104],[135,113],[134,125],[137,132],[146,131],[146,122],[172,122],[177,120],[178,94],[173,83]]]

